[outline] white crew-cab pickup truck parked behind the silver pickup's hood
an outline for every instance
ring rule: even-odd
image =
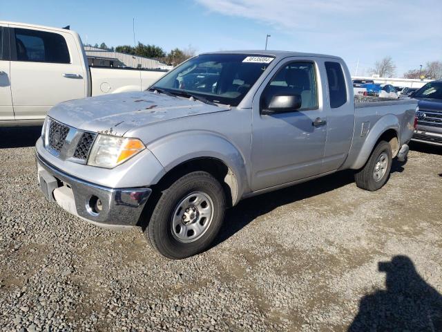
[[[0,21],[0,126],[41,124],[59,102],[142,91],[162,75],[89,67],[75,31]]]

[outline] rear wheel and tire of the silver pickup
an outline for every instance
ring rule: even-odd
[[[365,166],[354,175],[356,185],[374,192],[387,182],[392,168],[392,147],[385,140],[378,142]]]

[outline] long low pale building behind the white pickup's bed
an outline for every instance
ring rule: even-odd
[[[131,67],[131,68],[147,68],[147,69],[168,69],[167,66],[156,59],[148,57],[139,57],[138,55],[130,55],[110,50],[103,50],[93,46],[84,46],[89,66],[106,66],[106,67]]]

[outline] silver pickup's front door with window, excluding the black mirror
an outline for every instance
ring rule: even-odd
[[[253,191],[320,174],[327,136],[316,62],[287,61],[270,77],[253,99]],[[261,113],[274,95],[293,94],[302,101],[297,111]]]

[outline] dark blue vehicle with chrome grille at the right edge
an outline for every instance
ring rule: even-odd
[[[442,80],[425,84],[411,97],[419,101],[412,140],[442,146]]]

